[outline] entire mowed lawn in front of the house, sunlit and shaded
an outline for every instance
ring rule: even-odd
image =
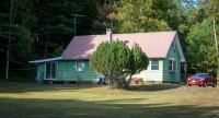
[[[219,118],[219,88],[0,81],[0,118]]]

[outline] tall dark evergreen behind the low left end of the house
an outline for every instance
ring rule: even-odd
[[[35,32],[38,37],[38,48],[43,48],[44,58],[48,58],[57,46],[67,46],[74,34],[74,19],[72,14],[84,9],[80,1],[53,0],[39,1],[37,5],[38,21]],[[77,25],[79,17],[77,17]],[[41,54],[39,54],[41,55]]]

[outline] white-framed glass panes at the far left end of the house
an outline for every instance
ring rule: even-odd
[[[57,75],[57,63],[47,62],[46,63],[46,79],[56,79]]]

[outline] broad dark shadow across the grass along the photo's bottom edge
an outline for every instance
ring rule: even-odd
[[[131,99],[131,98],[130,98]],[[218,118],[219,106],[130,104],[127,101],[0,97],[1,118]],[[131,99],[138,101],[138,99]],[[123,102],[123,103],[120,103]]]

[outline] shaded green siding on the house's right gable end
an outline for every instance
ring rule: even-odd
[[[169,71],[169,59],[176,60],[176,71]],[[163,81],[181,82],[181,58],[177,48],[170,48],[166,58],[163,60]]]

